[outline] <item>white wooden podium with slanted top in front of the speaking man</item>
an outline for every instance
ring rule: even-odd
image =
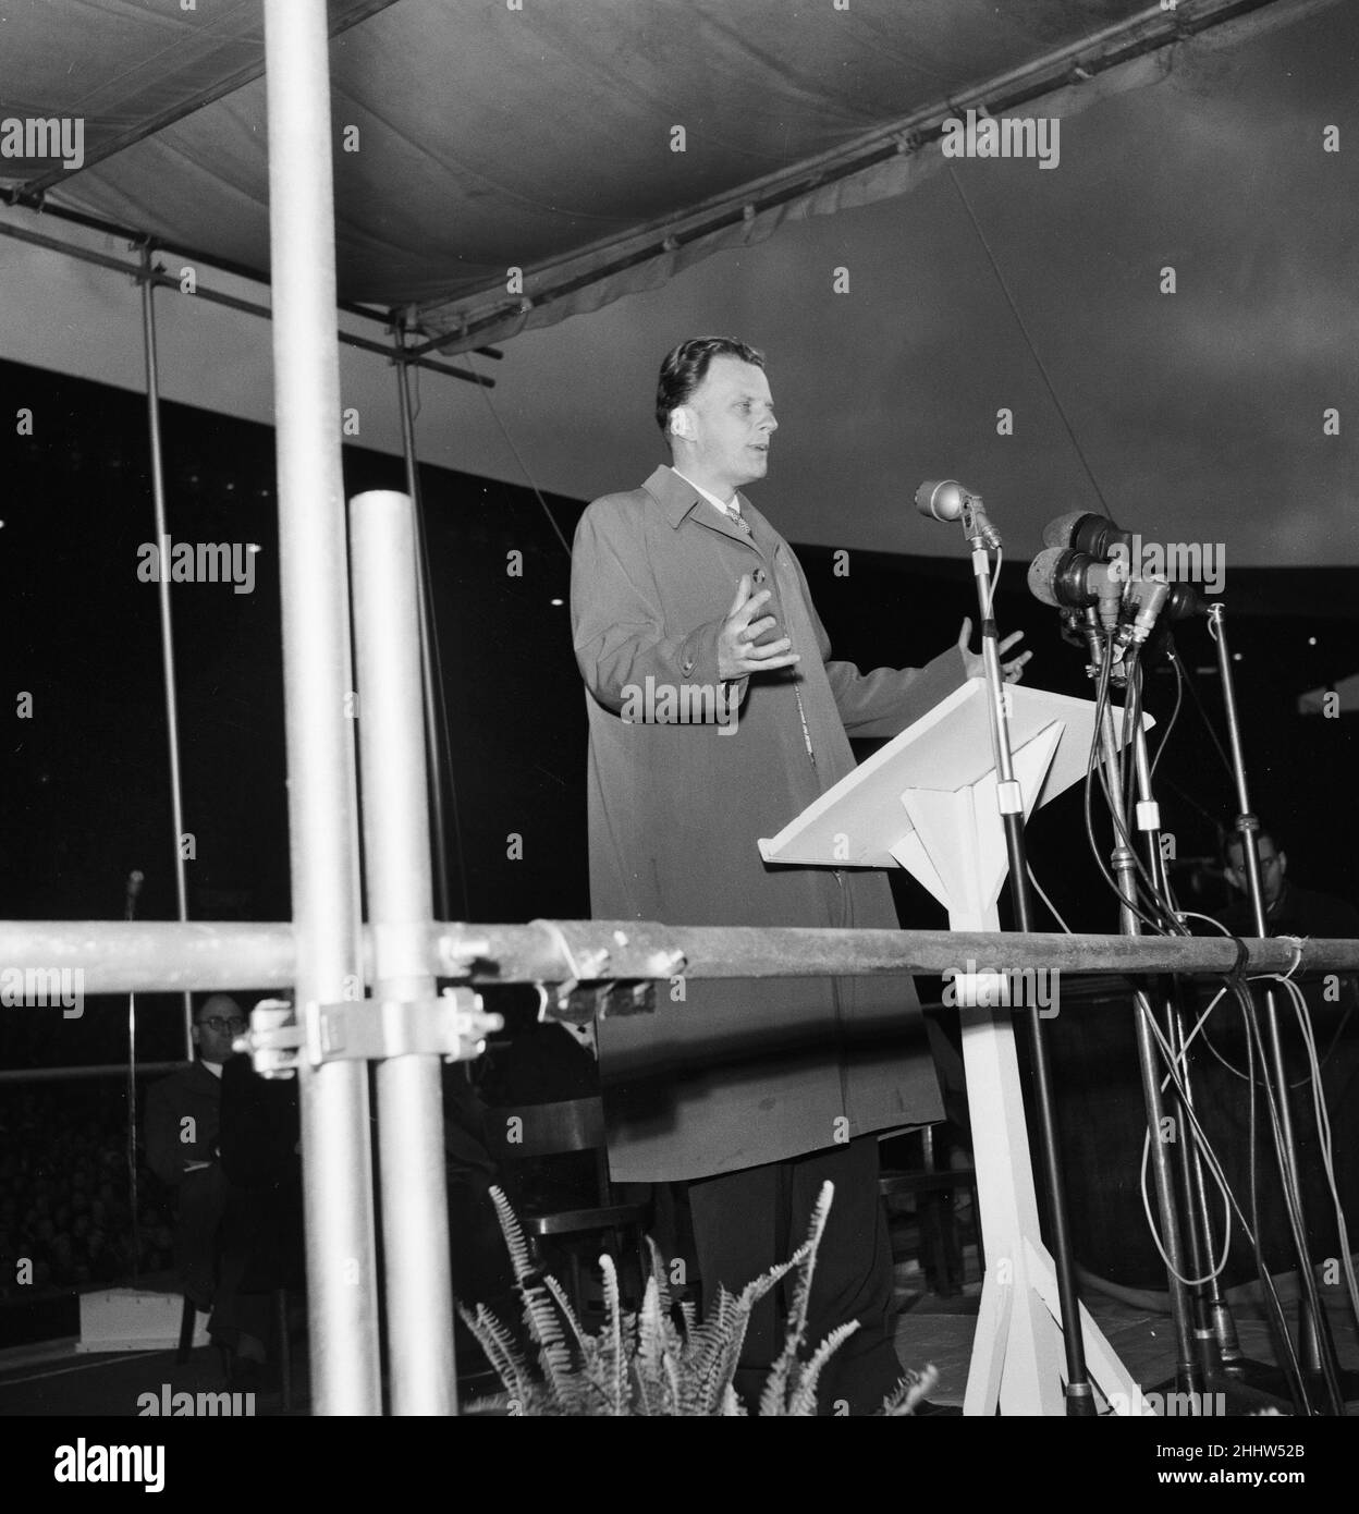
[[[1096,707],[1018,684],[1005,693],[1014,777],[1028,819],[1037,805],[1084,781]],[[955,689],[778,836],[761,840],[764,860],[905,868],[947,908],[952,930],[999,933],[996,901],[1009,858],[987,698],[984,678]],[[1121,743],[1123,712],[1111,713]],[[996,960],[975,964],[975,978],[964,977],[969,964],[959,961],[955,980],[987,1257],[962,1413],[1064,1414],[1061,1305],[1053,1261],[1038,1231],[1012,1010],[985,1007],[1002,1004],[994,974],[1005,972],[1003,957],[1005,937],[997,934]],[[982,992],[969,993],[970,986]],[[966,1007],[964,998],[984,1004]],[[1084,1305],[1081,1323],[1091,1382],[1115,1413],[1140,1414],[1141,1388]]]

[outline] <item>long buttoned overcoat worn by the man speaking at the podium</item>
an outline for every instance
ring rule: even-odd
[[[831,662],[791,548],[740,506],[749,534],[658,468],[577,530],[592,913],[894,930],[881,874],[767,866],[757,842],[854,768],[846,731],[893,736],[923,713],[920,674]],[[717,636],[742,574],[772,590],[767,613],[801,662],[723,696]],[[961,653],[947,656],[961,683]],[[614,1181],[734,1172],[941,1117],[907,975],[681,980],[657,999],[655,1014],[599,1026]]]

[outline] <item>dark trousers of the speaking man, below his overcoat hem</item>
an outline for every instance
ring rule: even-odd
[[[878,1139],[767,1163],[689,1185],[704,1311],[719,1284],[740,1294],[807,1238],[825,1181],[835,1198],[817,1252],[802,1360],[846,1320],[860,1328],[831,1357],[817,1391],[822,1414],[872,1414],[896,1387],[902,1367],[891,1343],[891,1248],[878,1193]],[[784,1299],[793,1276],[767,1293],[751,1316],[737,1391],[754,1407],[764,1375],[784,1346]]]

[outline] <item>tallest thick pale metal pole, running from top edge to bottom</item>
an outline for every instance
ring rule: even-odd
[[[325,0],[265,0],[297,1016],[362,992]],[[380,1414],[368,1067],[301,1067],[316,1414]]]

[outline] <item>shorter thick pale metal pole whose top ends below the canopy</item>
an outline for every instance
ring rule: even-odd
[[[412,501],[374,491],[350,503],[363,874],[374,998],[434,998],[430,810],[421,689],[419,559]],[[383,1284],[393,1414],[456,1414],[442,1063],[377,1067]]]

